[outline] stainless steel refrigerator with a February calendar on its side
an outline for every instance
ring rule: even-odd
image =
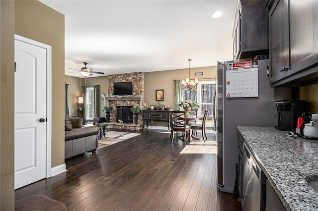
[[[251,88],[249,87],[251,82],[245,79],[252,76],[235,72],[239,69],[247,69],[248,67],[245,66],[246,62],[243,62],[243,64],[238,64],[238,62],[233,60],[218,62],[217,68],[218,186],[221,191],[229,193],[234,192],[236,163],[238,163],[239,155],[236,126],[274,127],[274,125],[277,125],[274,89],[270,87],[266,71],[267,66],[269,66],[268,59],[258,59],[256,64],[254,64],[257,65],[257,75],[253,73],[256,78],[251,80],[257,81],[256,87],[258,91],[256,96],[254,92],[252,94],[245,93],[245,95],[243,93],[242,96],[244,97],[239,97],[240,95],[233,90],[230,91],[229,86],[235,87],[233,85],[235,79],[240,82],[238,87],[246,83],[247,89]],[[252,61],[249,62],[251,65],[253,64]],[[241,68],[237,68],[238,66],[241,66]],[[230,73],[234,73],[235,76]]]

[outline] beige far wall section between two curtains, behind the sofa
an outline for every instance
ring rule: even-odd
[[[78,115],[77,106],[79,97],[82,97],[82,79],[66,75],[64,80],[66,84],[69,84],[69,115]]]

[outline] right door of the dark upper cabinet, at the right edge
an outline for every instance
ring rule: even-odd
[[[290,66],[292,75],[318,63],[318,1],[289,0]]]

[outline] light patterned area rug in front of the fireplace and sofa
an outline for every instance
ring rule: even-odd
[[[100,150],[104,147],[116,144],[118,142],[130,139],[132,137],[138,136],[141,133],[128,133],[128,132],[119,132],[119,131],[105,131],[105,137],[102,137],[101,140],[98,140],[98,148]]]

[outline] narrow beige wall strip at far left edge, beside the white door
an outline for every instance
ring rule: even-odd
[[[14,210],[14,1],[0,0],[0,210]]]

